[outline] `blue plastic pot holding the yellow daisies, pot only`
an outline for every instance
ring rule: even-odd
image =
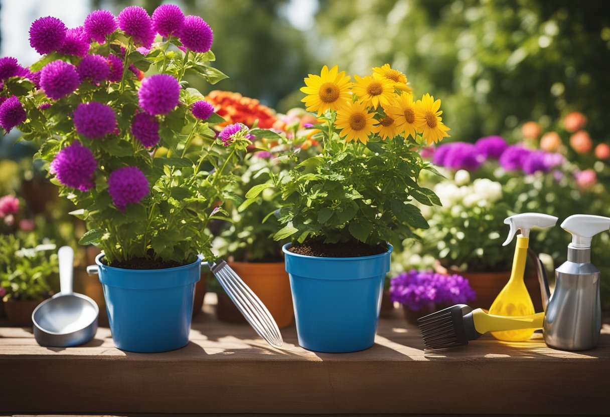
[[[299,344],[316,352],[356,352],[375,343],[388,251],[357,258],[298,255],[282,248]]]

